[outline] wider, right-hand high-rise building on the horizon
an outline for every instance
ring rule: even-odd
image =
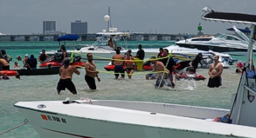
[[[71,23],[72,34],[87,34],[87,22],[81,22],[80,20]]]

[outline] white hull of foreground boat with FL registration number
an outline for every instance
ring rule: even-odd
[[[252,127],[204,120],[229,113],[225,109],[152,102],[77,102],[80,104],[17,102],[15,106],[42,138],[225,138],[256,132]]]

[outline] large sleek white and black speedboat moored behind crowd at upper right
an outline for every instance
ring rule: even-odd
[[[176,45],[190,49],[212,50],[215,52],[227,53],[230,55],[246,55],[248,49],[247,36],[232,27],[238,36],[219,34],[217,36],[197,36],[176,42]],[[253,45],[255,52],[255,45]]]

